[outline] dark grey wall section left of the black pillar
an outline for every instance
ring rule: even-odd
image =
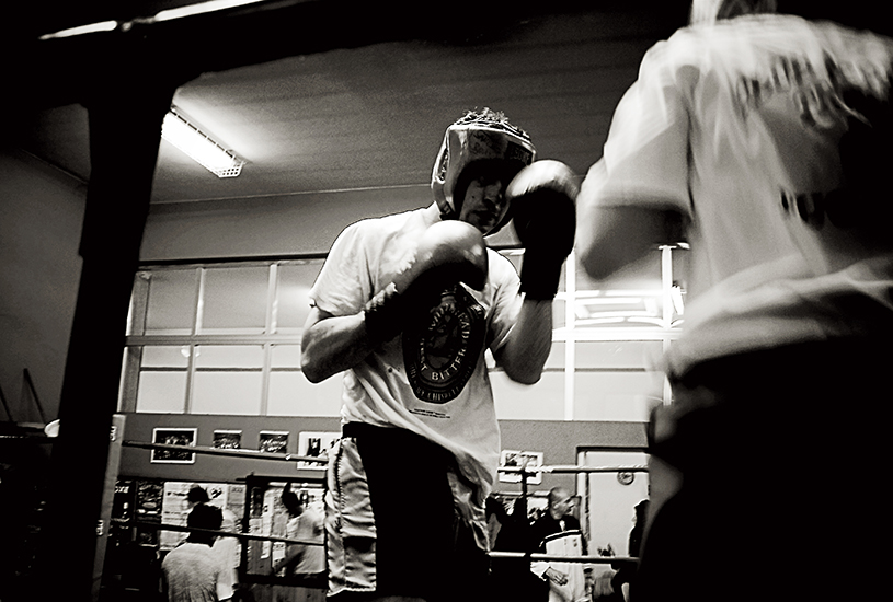
[[[58,417],[85,199],[84,183],[23,152],[0,152],[0,386],[14,421],[42,421],[25,369],[47,420]]]

